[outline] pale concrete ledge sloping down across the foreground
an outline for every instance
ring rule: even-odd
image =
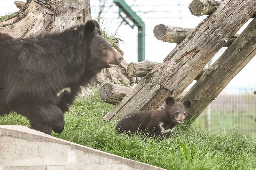
[[[0,170],[160,170],[25,126],[0,125]]]

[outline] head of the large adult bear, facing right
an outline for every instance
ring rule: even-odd
[[[92,69],[102,69],[112,66],[117,66],[123,60],[123,57],[114,49],[106,39],[101,36],[100,25],[94,21],[89,20],[84,26],[84,39],[90,50],[90,57],[86,56],[87,66]],[[89,40],[88,40],[89,39]],[[87,49],[88,52],[88,49]]]

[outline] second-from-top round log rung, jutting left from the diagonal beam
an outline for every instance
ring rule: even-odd
[[[154,27],[154,36],[156,39],[165,42],[180,44],[180,42],[183,41],[183,39],[185,39],[193,30],[193,28],[180,28],[159,24]],[[228,40],[227,43],[224,44],[224,46],[230,46],[238,35],[239,34],[235,34],[231,39]]]

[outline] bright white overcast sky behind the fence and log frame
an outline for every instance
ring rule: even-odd
[[[24,1],[24,0],[23,0]],[[0,16],[10,12],[18,11],[18,8],[13,3],[13,0],[0,0]],[[128,5],[132,5],[132,10],[135,11],[146,24],[146,46],[145,59],[163,62],[163,59],[172,51],[176,46],[174,43],[167,43],[157,40],[154,37],[153,29],[155,25],[165,24],[170,26],[178,26],[185,28],[195,28],[206,16],[195,17],[188,10],[188,5],[191,0],[158,0],[158,1],[145,1],[145,0],[126,0]],[[91,0],[92,18],[98,17],[99,13],[99,0]],[[137,28],[132,29],[129,25],[121,24],[122,19],[118,18],[118,7],[112,2],[107,0],[105,8],[101,14],[104,18],[103,25],[107,28],[108,32],[115,34],[124,40],[120,43],[121,49],[124,51],[124,59],[129,62],[137,61]],[[250,19],[238,33],[248,25]],[[103,21],[103,19],[101,20]],[[224,52],[225,48],[221,49]],[[221,53],[218,53],[213,58],[215,61]],[[207,54],[205,54],[207,55]],[[246,88],[250,92],[256,90],[256,57],[244,67],[244,69],[229,83],[228,89]],[[226,90],[228,92],[228,90]]]

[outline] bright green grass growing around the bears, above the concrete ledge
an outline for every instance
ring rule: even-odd
[[[113,105],[94,97],[78,98],[65,114],[65,128],[53,136],[165,169],[256,169],[256,143],[237,131],[220,134],[180,126],[161,142],[115,131],[116,123],[102,122]],[[26,125],[17,114],[0,118],[0,124]]]

